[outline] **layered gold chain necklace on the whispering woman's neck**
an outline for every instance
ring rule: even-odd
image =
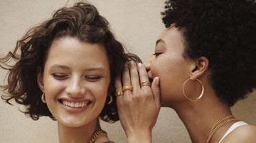
[[[221,126],[223,126],[223,125],[225,125],[226,123],[231,122],[231,121],[233,121],[233,120],[236,120],[236,118],[234,118],[233,115],[228,115],[228,116],[226,116],[226,117],[224,117],[224,118],[221,118],[221,120],[218,120],[218,122],[215,123],[215,124],[212,126],[212,129],[211,129],[211,131],[210,131],[210,134],[209,134],[209,137],[208,137],[206,143],[209,143],[209,142],[210,142],[210,140],[211,140],[212,137],[213,137],[213,134],[215,134],[215,132],[216,132]]]

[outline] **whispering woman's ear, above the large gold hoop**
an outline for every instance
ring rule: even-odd
[[[191,68],[191,79],[198,79],[200,76],[204,75],[209,68],[209,60],[205,56],[201,56],[194,61]]]

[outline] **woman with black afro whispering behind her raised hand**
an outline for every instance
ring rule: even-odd
[[[176,111],[192,142],[255,142],[256,127],[230,110],[256,88],[255,1],[169,0],[165,8],[154,56],[116,79],[117,91],[133,87],[117,97],[128,142],[152,142],[160,104]]]

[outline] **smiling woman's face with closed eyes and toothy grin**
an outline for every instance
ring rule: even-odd
[[[103,47],[73,37],[54,41],[38,85],[56,120],[65,126],[87,125],[104,107],[110,83],[109,62]]]

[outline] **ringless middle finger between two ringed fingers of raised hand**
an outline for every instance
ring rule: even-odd
[[[130,77],[131,77],[131,85],[133,85],[133,93],[141,90],[139,85],[139,74],[137,69],[137,64],[134,61],[130,61]]]

